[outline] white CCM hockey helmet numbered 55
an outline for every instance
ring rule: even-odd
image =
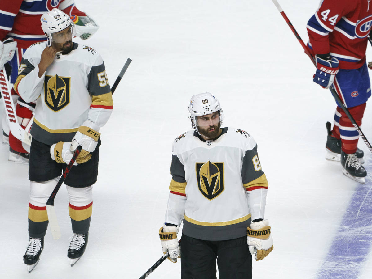
[[[70,17],[58,10],[57,8],[44,13],[41,18],[41,29],[47,35],[48,43],[47,46],[51,46],[52,43],[52,33],[59,32],[67,27],[71,27],[72,37],[76,36],[75,24],[72,22]]]

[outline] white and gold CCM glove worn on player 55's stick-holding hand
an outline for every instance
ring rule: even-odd
[[[87,152],[93,152],[96,149],[98,144],[97,141],[101,134],[97,132],[95,129],[91,128],[93,126],[96,126],[93,124],[93,122],[85,121],[83,125],[79,127],[76,134],[74,135],[73,140],[71,141],[70,145],[71,151],[74,152],[78,145],[81,145],[81,156],[83,156],[84,154],[84,157],[86,157],[88,155]]]

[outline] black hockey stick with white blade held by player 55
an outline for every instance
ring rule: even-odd
[[[116,81],[114,83],[114,86],[116,84],[115,88],[113,87],[111,89],[112,94],[115,92],[116,87],[118,86],[121,78],[123,77],[126,69],[128,69],[128,66],[131,62],[132,60],[130,58],[126,60],[121,72],[119,73],[118,78],[116,78]],[[57,182],[57,185],[54,187],[54,190],[52,191],[51,195],[49,196],[47,200],[47,215],[48,215],[48,220],[49,220],[49,227],[51,229],[52,237],[54,239],[59,239],[61,237],[61,230],[60,230],[60,226],[58,225],[57,214],[55,214],[55,210],[54,210],[54,198],[55,198],[55,195],[57,195],[58,190],[60,190],[60,187],[63,181],[65,180],[67,174],[70,172],[72,166],[74,165],[76,158],[79,155],[80,151],[81,151],[81,145],[78,145],[70,163],[68,163],[64,173],[61,175],[60,179]]]

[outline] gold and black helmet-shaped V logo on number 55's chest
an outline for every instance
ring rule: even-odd
[[[59,111],[70,103],[70,77],[45,76],[44,101],[52,111]]]

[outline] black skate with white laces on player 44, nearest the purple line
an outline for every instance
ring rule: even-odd
[[[342,173],[344,175],[359,183],[366,182],[365,177],[367,176],[367,172],[360,164],[359,159],[356,157],[356,153],[346,154],[341,150],[341,165],[343,167]]]

